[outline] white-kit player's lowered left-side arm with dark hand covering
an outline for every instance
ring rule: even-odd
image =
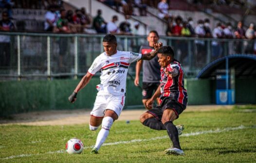
[[[77,93],[83,89],[88,83],[89,81],[91,81],[91,78],[92,78],[92,74],[90,73],[87,73],[82,79],[81,81],[78,83],[78,85],[76,86],[74,92],[70,95],[69,97],[69,101],[74,103],[74,101],[76,100],[76,95]]]

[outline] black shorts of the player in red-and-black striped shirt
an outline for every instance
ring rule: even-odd
[[[161,120],[162,116],[164,114],[165,109],[171,108],[177,115],[177,119],[179,118],[179,115],[182,114],[182,112],[186,109],[186,106],[179,103],[178,101],[171,99],[169,97],[164,98],[164,100],[161,102],[159,106],[156,108],[153,108],[146,113],[152,114],[156,117],[156,119]]]

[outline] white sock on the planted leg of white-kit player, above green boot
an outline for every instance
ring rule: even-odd
[[[102,119],[102,127],[98,133],[96,144],[94,146],[97,148],[97,150],[100,149],[102,144],[105,142],[106,138],[109,136],[110,128],[113,124],[113,121],[113,118],[111,118],[110,116],[106,116]]]

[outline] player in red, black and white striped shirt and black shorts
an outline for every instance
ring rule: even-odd
[[[157,56],[161,66],[160,85],[154,95],[146,102],[146,105],[150,108],[153,101],[159,96],[161,103],[156,108],[142,114],[140,121],[151,129],[167,130],[173,147],[166,149],[166,154],[184,155],[180,146],[178,129],[173,124],[173,121],[179,118],[187,105],[183,69],[181,64],[174,59],[174,52],[170,46],[160,48]]]

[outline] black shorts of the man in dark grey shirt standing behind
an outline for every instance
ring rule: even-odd
[[[157,90],[159,82],[143,82],[142,83],[142,97],[143,99],[149,99],[153,93]]]

